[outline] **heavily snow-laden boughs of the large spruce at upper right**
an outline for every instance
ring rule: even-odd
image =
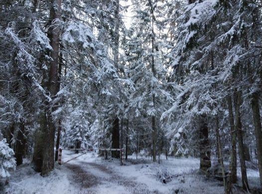
[[[248,74],[241,69],[249,71],[251,67],[245,66],[249,63],[248,55],[257,52],[245,42],[252,31],[248,25],[252,17],[247,12],[257,11],[252,3],[234,0],[192,2],[187,5],[182,1],[173,5],[167,3],[167,7],[181,6],[183,11],[180,14],[171,12],[175,24],[170,25],[169,30],[175,44],[168,51],[173,56],[169,65],[175,102],[161,116],[162,121],[169,121],[165,126],[173,146],[170,150],[179,152],[182,148],[181,152],[185,153],[190,146],[194,147],[197,136],[192,133],[197,135],[198,116],[220,116],[227,109],[225,100],[233,88],[243,90],[249,85],[244,79],[248,80]],[[179,132],[181,130],[184,135]]]

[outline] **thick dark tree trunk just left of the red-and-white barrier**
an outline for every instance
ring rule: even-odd
[[[49,28],[50,44],[52,51],[50,56],[50,69],[48,74],[48,83],[46,88],[53,98],[57,93],[57,73],[59,63],[59,20],[61,17],[61,0],[50,0],[50,21]],[[54,168],[54,138],[55,124],[52,119],[52,110],[46,102],[44,111],[40,115],[40,131],[36,137],[33,164],[36,171],[40,171],[42,176],[46,176]]]

